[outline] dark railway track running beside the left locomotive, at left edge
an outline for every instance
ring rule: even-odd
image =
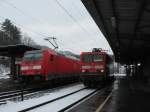
[[[19,100],[19,98],[21,99],[22,95],[26,99],[27,97],[36,96],[36,94],[39,94],[39,93],[44,93],[47,91],[50,92],[50,91],[54,91],[54,90],[57,90],[60,88],[69,87],[69,86],[72,86],[75,84],[79,84],[79,83],[69,84],[69,85],[65,85],[65,86],[59,86],[59,87],[55,87],[55,88],[51,88],[51,89],[49,89],[49,88],[47,88],[47,89],[27,88],[24,90],[2,92],[2,93],[0,93],[0,105],[6,104],[6,102],[8,100],[13,100],[13,99]]]

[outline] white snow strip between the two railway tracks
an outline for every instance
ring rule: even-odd
[[[19,110],[23,110],[23,109],[26,109],[28,107],[40,104],[42,102],[46,102],[46,101],[55,99],[57,97],[63,96],[65,94],[74,92],[74,91],[79,90],[81,88],[84,88],[84,86],[82,84],[72,86],[72,87],[68,87],[68,88],[63,88],[63,89],[60,89],[60,90],[56,90],[54,92],[47,93],[45,96],[25,100],[23,102],[11,102],[11,101],[9,101],[9,102],[7,102],[6,105],[1,105],[0,106],[0,112],[17,112]]]

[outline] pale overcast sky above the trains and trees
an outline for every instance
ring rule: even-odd
[[[108,42],[80,0],[0,0],[0,22],[14,21],[37,44],[52,47],[45,37],[56,37],[59,50],[79,54],[92,48],[110,50]],[[111,53],[111,52],[109,52]]]

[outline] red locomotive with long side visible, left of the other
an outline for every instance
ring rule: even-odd
[[[66,57],[52,49],[25,53],[21,63],[23,80],[77,79],[81,73],[80,61]]]

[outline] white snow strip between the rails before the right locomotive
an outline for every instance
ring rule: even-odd
[[[67,107],[68,105],[82,99],[83,97],[87,96],[88,94],[92,93],[94,90],[84,90],[79,93],[70,95],[64,99],[57,100],[56,102],[49,103],[45,106],[40,108],[31,110],[29,112],[58,112],[59,110]]]

